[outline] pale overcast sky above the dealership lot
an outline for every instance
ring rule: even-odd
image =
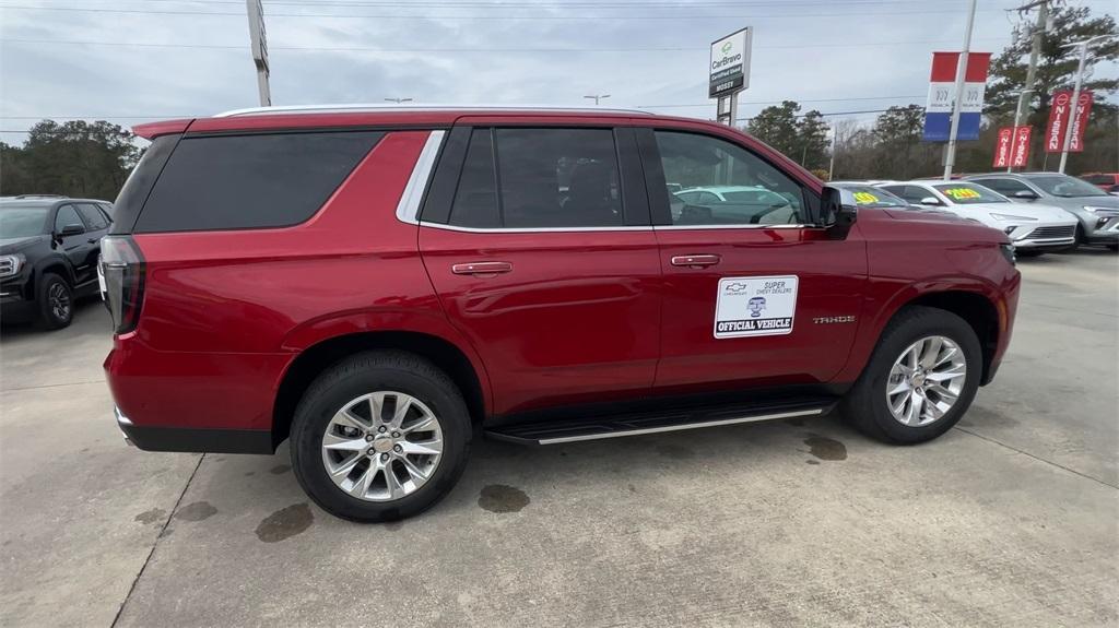
[[[1015,0],[979,0],[998,53]],[[1073,0],[1093,12],[1113,0]],[[273,104],[586,105],[713,117],[711,41],[754,28],[741,116],[924,103],[967,0],[264,0]],[[0,0],[0,139],[43,117],[123,125],[257,104],[244,0]],[[1112,68],[1112,72],[1113,68]],[[871,120],[876,114],[849,115]],[[834,120],[834,118],[833,118]]]

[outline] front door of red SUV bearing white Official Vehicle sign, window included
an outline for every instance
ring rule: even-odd
[[[665,276],[656,387],[815,384],[847,361],[866,283],[866,246],[810,226],[819,197],[731,139],[639,130]],[[669,187],[771,199],[670,208]]]

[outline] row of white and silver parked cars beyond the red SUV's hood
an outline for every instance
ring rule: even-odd
[[[934,208],[981,222],[1006,234],[1022,256],[1076,246],[1119,249],[1119,198],[1066,174],[997,172],[951,181],[839,181],[836,184],[873,188],[874,192],[863,190],[863,198],[869,206],[881,204],[876,194],[887,192],[910,208]]]

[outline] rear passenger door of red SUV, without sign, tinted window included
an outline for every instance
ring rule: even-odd
[[[443,308],[495,413],[648,392],[657,242],[630,129],[460,125],[420,219]]]

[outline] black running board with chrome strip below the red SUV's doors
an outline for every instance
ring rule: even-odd
[[[834,406],[835,400],[831,399],[787,403],[708,406],[587,419],[511,424],[491,428],[486,431],[486,436],[523,445],[558,445],[754,421],[818,417],[828,413]]]

